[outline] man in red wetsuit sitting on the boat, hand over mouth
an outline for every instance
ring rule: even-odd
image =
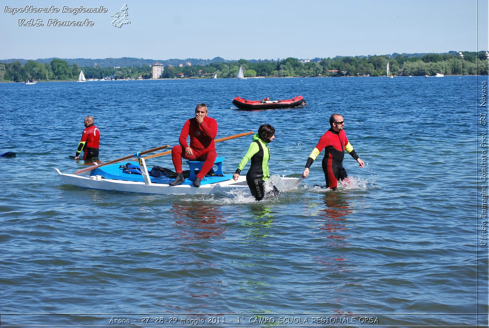
[[[207,117],[207,105],[198,104],[195,108],[195,117],[187,120],[180,132],[177,146],[172,148],[172,161],[177,172],[177,177],[170,182],[170,186],[182,184],[185,181],[182,171],[182,157],[193,161],[204,161],[194,186],[200,187],[200,180],[212,169],[217,153],[214,148],[214,138],[217,135],[217,122]],[[187,137],[190,135],[190,146]]]

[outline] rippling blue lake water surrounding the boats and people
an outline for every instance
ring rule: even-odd
[[[0,84],[0,153],[17,153],[0,158],[1,325],[487,326],[478,86],[474,76]],[[231,103],[296,95],[305,108]],[[84,167],[68,156],[87,115],[109,161],[177,144],[200,102],[218,137],[274,126],[273,175],[302,173],[332,113],[366,165],[346,155],[351,183],[323,189],[321,153],[298,189],[261,202],[88,190],[53,169]],[[216,144],[225,173],[250,142]],[[148,165],[173,169],[170,156]]]

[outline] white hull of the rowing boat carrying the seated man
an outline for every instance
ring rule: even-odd
[[[195,187],[192,184],[181,184],[170,186],[165,183],[145,183],[140,181],[126,181],[116,179],[106,179],[101,175],[73,175],[61,173],[55,169],[65,184],[82,188],[119,191],[127,193],[157,194],[157,195],[197,195],[197,194],[216,194],[229,192],[237,189],[248,189],[246,176],[241,175],[238,181],[232,178],[216,183],[209,183]],[[302,182],[302,179],[294,177],[280,177],[279,191],[295,189]]]

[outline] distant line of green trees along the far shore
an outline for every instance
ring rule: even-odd
[[[386,75],[389,63],[393,75],[487,75],[489,61],[485,52],[464,52],[464,57],[453,54],[425,54],[422,57],[361,56],[334,57],[320,61],[303,63],[296,58],[283,60],[247,61],[240,59],[232,63],[210,63],[196,66],[165,66],[160,78],[235,78],[240,66],[243,66],[244,76],[255,77],[312,77],[312,76],[381,76]],[[115,79],[152,78],[150,65],[131,67],[94,67],[69,66],[62,59],[53,59],[49,63],[39,63],[29,60],[24,65],[19,61],[0,64],[0,81],[21,82],[25,80],[75,80],[80,70],[87,79],[102,79],[111,76]]]

